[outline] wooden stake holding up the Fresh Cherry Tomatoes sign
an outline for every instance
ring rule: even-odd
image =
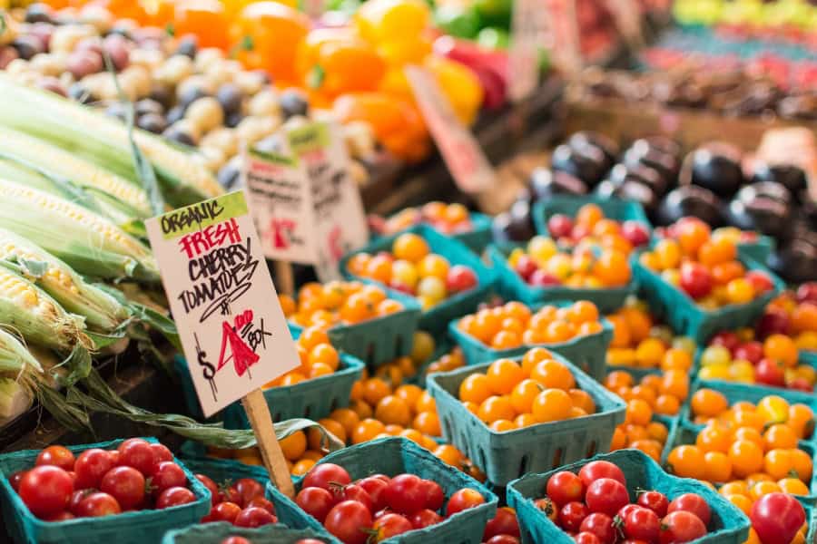
[[[252,432],[258,440],[258,449],[261,450],[261,459],[264,466],[270,472],[270,479],[281,493],[295,498],[295,487],[292,485],[290,470],[287,468],[287,461],[284,459],[281,444],[275,436],[275,427],[272,426],[272,416],[270,407],[261,389],[256,389],[247,393],[241,399],[247,418],[250,420]]]

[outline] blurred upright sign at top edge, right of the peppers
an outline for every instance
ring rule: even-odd
[[[536,0],[516,0],[508,48],[508,95],[525,100],[539,83],[539,45],[543,43],[545,12]]]

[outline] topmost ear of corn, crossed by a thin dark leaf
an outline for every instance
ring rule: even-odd
[[[53,92],[31,89],[0,75],[0,124],[35,135],[137,181],[127,128]],[[222,193],[212,173],[161,137],[134,129],[133,137],[176,206]]]

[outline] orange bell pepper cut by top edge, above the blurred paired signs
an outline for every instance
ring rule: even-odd
[[[236,20],[233,44],[236,57],[248,69],[262,69],[277,84],[297,84],[295,56],[310,32],[310,19],[288,5],[255,2]]]

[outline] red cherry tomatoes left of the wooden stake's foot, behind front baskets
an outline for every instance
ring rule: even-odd
[[[210,513],[202,518],[202,523],[226,521],[236,527],[261,527],[278,522],[275,505],[264,497],[264,486],[252,478],[241,478],[231,485],[216,485],[205,474],[196,474],[210,490]]]

